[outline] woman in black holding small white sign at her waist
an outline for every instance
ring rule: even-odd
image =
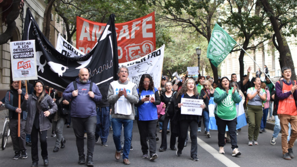
[[[176,151],[176,155],[180,157],[182,155],[182,151],[184,149],[184,143],[188,134],[188,128],[190,126],[190,137],[191,137],[191,158],[193,161],[198,161],[197,158],[197,129],[198,129],[198,115],[192,114],[182,114],[181,107],[183,103],[181,103],[182,98],[185,99],[202,99],[198,95],[197,87],[195,85],[195,81],[190,78],[185,81],[181,90],[178,91],[176,97],[175,109],[177,112],[174,115],[176,121],[179,124],[179,137],[178,137],[178,150]],[[204,109],[205,105],[202,104],[200,108]]]

